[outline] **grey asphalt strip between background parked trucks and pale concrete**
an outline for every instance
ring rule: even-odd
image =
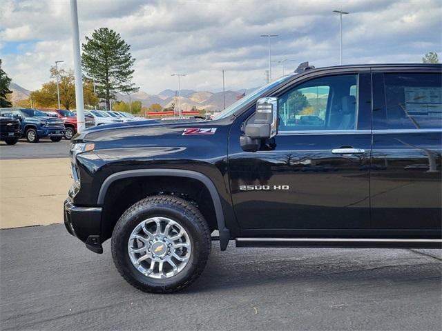
[[[58,143],[50,139],[40,139],[38,143],[28,143],[20,139],[16,145],[8,146],[0,142],[0,160],[3,159],[42,159],[69,157],[70,141],[61,139]]]

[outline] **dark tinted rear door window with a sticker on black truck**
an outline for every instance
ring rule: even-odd
[[[442,75],[384,74],[385,109],[374,112],[374,128],[442,128]]]

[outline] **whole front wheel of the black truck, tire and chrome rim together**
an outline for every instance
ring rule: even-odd
[[[211,248],[200,211],[169,195],[138,201],[119,218],[112,234],[117,270],[144,292],[182,290],[200,276]]]

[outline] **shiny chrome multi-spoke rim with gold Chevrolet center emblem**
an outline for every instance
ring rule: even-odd
[[[167,217],[151,217],[140,222],[128,241],[133,266],[153,279],[179,274],[189,262],[191,252],[189,234]]]

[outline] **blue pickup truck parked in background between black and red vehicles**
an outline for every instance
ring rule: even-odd
[[[64,137],[64,121],[49,117],[44,112],[32,108],[0,108],[0,115],[12,114],[19,119],[21,135],[30,143],[38,143],[40,138],[48,137],[52,141],[60,141]]]

